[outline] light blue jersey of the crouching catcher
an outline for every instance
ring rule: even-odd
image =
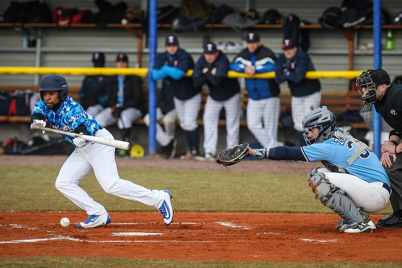
[[[355,152],[355,145],[349,140],[331,138],[323,143],[303,146],[302,151],[307,162],[328,161],[332,165],[344,167],[349,174],[366,182],[383,182],[390,186],[384,168],[369,149],[364,150],[351,166],[346,164]]]

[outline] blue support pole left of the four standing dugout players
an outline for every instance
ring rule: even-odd
[[[149,113],[149,127],[148,127],[148,141],[149,141],[149,154],[156,153],[156,82],[152,79],[152,69],[155,65],[156,59],[156,44],[158,37],[157,28],[157,14],[156,9],[158,6],[157,0],[148,1],[148,47],[149,47],[149,67],[148,67],[148,113]]]

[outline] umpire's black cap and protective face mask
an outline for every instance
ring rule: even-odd
[[[356,78],[356,86],[359,88],[360,97],[365,103],[363,111],[368,110],[371,104],[375,102],[377,86],[382,84],[391,84],[388,73],[382,69],[369,69]]]

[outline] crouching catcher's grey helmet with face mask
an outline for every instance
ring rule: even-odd
[[[336,117],[332,111],[328,110],[327,106],[318,107],[305,115],[302,121],[303,128],[307,129],[303,136],[307,145],[312,145],[317,142],[324,142],[331,137],[335,130]],[[318,136],[309,138],[309,130],[313,127],[318,127]]]

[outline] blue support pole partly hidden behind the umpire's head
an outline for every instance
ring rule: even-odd
[[[373,43],[374,43],[374,69],[381,68],[381,0],[374,0],[373,3]],[[373,107],[373,136],[374,154],[381,156],[381,116]]]

